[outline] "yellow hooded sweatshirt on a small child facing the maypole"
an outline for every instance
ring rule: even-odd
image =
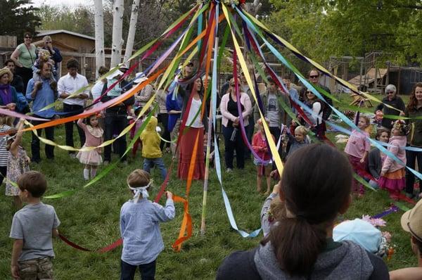
[[[151,117],[151,120],[145,127],[145,130],[141,133],[142,141],[142,156],[143,158],[161,158],[162,152],[160,149],[160,136],[155,130],[158,125],[156,117]]]

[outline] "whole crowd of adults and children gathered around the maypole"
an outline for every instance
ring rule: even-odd
[[[32,112],[32,117],[39,119],[32,120],[32,125],[78,115],[87,106],[98,106],[122,96],[147,79],[143,73],[134,75],[133,80],[122,77],[129,70],[125,65],[104,77],[109,70],[101,67],[98,74],[103,79],[90,91],[87,78],[79,74],[79,63],[73,58],[66,61],[68,73],[58,77],[58,63],[62,58],[50,37],[44,37],[44,46],[39,49],[32,44],[31,34],[25,33],[24,39],[6,61],[5,68],[0,69],[0,108]],[[210,77],[201,76],[199,72],[195,63],[187,61],[167,89],[148,84],[134,96],[98,114],[65,123],[67,146],[75,146],[74,124],[77,127],[77,147],[81,149],[78,153],[70,149],[69,155],[79,160],[83,165],[82,176],[89,180],[96,177],[100,165],[110,164],[112,149],[119,160],[127,164],[127,137],[120,134],[129,122],[136,122],[131,137],[139,139],[132,154],[136,156],[141,146],[143,170],[136,169],[127,177],[127,186],[134,197],[122,205],[120,212],[121,279],[134,279],[136,267],[142,279],[154,279],[156,259],[164,248],[158,224],[175,215],[172,193],[166,193],[165,207],[148,200],[151,169],[157,167],[164,180],[167,169],[163,155],[171,153],[178,161],[179,179],[188,179],[190,172],[192,179],[205,177],[204,147],[210,129],[210,100],[205,98],[205,83],[210,82]],[[268,198],[261,213],[264,239],[253,250],[226,257],[217,279],[344,279],[345,276],[349,279],[388,279],[389,276],[414,279],[412,275],[421,274],[421,269],[414,268],[399,269],[389,275],[380,257],[352,241],[333,240],[333,227],[338,215],[349,208],[351,193],[357,193],[358,197],[364,194],[364,187],[353,179],[353,172],[371,186],[387,189],[394,200],[400,198],[402,190],[409,198],[418,196],[414,174],[406,170],[405,165],[414,168],[418,160],[418,166],[422,166],[422,152],[417,149],[422,148],[422,120],[418,119],[422,114],[422,83],[415,85],[407,106],[393,85],[385,89],[386,97],[376,108],[385,114],[376,139],[388,143],[388,153],[378,148],[371,151],[370,134],[366,132],[371,122],[366,115],[360,115],[356,120],[359,129],[352,131],[345,147],[346,156],[326,144],[311,144],[328,141],[326,120],[331,115],[332,101],[329,89],[319,84],[319,76],[319,71],[309,71],[309,82],[326,92],[324,100],[305,87],[298,92],[289,79],[268,76],[261,77],[264,90],[255,102],[243,73],[229,77],[219,90],[218,110],[212,113],[221,113],[226,172],[234,172],[235,158],[240,170],[252,160],[257,171],[257,191],[262,191],[265,177],[264,190]],[[150,115],[148,124],[139,132],[146,121],[146,116],[139,118],[139,112],[154,94],[158,110],[146,111],[146,115]],[[53,106],[58,99],[63,101],[63,112],[57,112]],[[87,103],[89,99],[94,105]],[[393,120],[391,115],[408,118]],[[271,141],[286,163],[272,193],[271,174],[276,173],[276,168],[263,122],[267,123]],[[41,203],[47,186],[44,175],[30,171],[31,162],[41,161],[42,129],[32,132],[29,157],[22,146],[24,125],[25,120],[0,116],[0,179],[6,178],[6,196],[13,196],[17,209],[22,208],[23,202],[27,203],[13,217],[11,273],[15,279],[52,279],[51,238],[58,236],[60,221],[51,206]],[[54,130],[54,126],[44,128],[46,139],[54,141]],[[212,130],[212,135],[214,133]],[[113,145],[98,147],[111,139],[115,139]],[[210,141],[214,141],[214,137]],[[53,160],[54,147],[46,144],[45,155]],[[13,186],[15,182],[18,188]],[[418,216],[421,210],[418,203],[402,217],[402,227],[411,233],[419,264],[422,263],[422,227]]]

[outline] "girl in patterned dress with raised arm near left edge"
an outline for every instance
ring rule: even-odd
[[[13,186],[18,177],[30,171],[30,158],[27,156],[22,146],[23,124],[25,120],[20,119],[18,123],[18,133],[8,136],[6,149],[8,153],[6,196],[13,196],[13,204],[16,208],[22,208],[22,201],[19,198],[19,189]],[[20,131],[19,131],[20,130]]]

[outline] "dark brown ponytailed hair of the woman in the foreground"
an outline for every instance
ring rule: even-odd
[[[312,144],[289,156],[281,177],[286,217],[261,243],[271,241],[281,269],[309,276],[326,248],[326,229],[350,196],[352,168],[343,153]]]

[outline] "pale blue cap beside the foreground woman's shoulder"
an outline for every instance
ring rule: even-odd
[[[363,219],[341,222],[333,229],[334,241],[353,241],[371,253],[378,252],[381,238],[381,231]]]

